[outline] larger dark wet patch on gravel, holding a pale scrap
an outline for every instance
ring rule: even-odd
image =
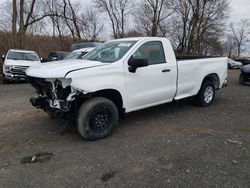
[[[53,156],[54,156],[53,153],[48,153],[48,152],[38,153],[30,157],[24,157],[21,160],[21,164],[44,163],[48,162]]]

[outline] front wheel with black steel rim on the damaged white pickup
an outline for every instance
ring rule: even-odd
[[[118,123],[115,104],[102,97],[92,98],[82,104],[78,111],[77,128],[86,140],[107,137]]]

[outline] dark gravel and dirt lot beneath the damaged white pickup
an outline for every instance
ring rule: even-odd
[[[30,105],[28,84],[0,85],[0,185],[250,187],[250,87],[238,75],[209,108],[183,100],[132,113],[95,142],[61,135],[62,120]]]

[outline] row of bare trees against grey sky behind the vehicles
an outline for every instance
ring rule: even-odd
[[[228,26],[228,0],[12,0],[1,6],[0,30],[13,48],[31,36],[70,41],[133,36],[168,37],[183,55],[240,56],[249,42],[249,22]],[[109,25],[108,25],[109,24]],[[68,44],[68,43],[67,43]]]

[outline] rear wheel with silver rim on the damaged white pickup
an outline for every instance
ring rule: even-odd
[[[196,104],[201,107],[210,106],[215,98],[215,87],[213,82],[204,81],[202,83],[201,89],[196,96]]]

